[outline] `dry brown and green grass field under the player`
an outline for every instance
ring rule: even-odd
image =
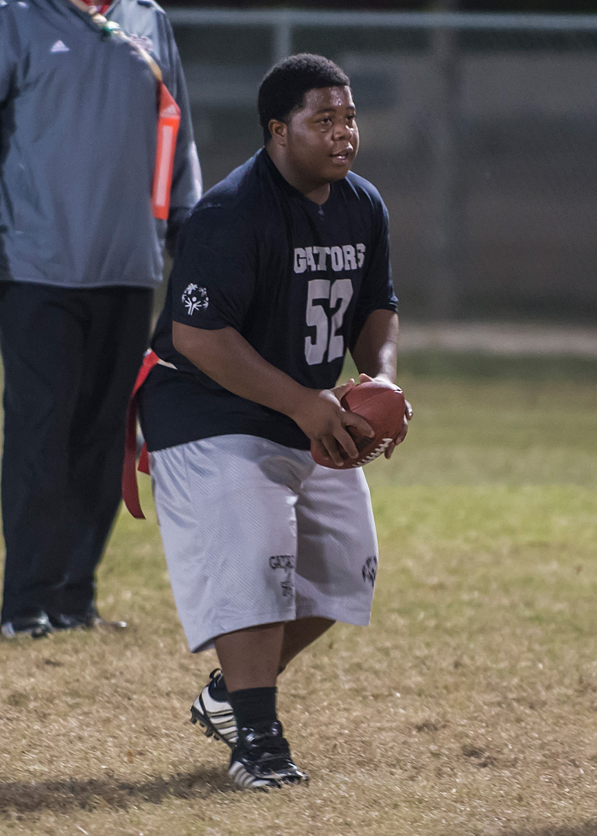
[[[3,836],[597,834],[597,370],[420,354],[401,382],[371,627],[279,683],[309,786],[231,788],[188,722],[215,659],[186,651],[155,518],[122,515],[99,603],[130,630],[0,644]]]

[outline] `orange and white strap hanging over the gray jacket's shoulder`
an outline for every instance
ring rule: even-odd
[[[153,185],[151,186],[151,206],[154,217],[163,221],[168,220],[170,211],[170,193],[172,188],[172,174],[174,171],[174,155],[176,153],[176,137],[181,125],[181,109],[170,91],[164,84],[161,69],[157,62],[151,57],[146,49],[139,43],[135,43],[122,31],[118,23],[108,20],[103,14],[89,7],[84,0],[70,0],[82,12],[89,14],[96,26],[99,27],[105,37],[114,35],[124,40],[140,55],[145,64],[151,69],[157,83],[158,92],[158,119],[157,119],[157,145],[156,165],[154,167]]]

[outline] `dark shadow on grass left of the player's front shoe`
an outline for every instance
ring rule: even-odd
[[[216,793],[237,792],[225,769],[197,769],[177,772],[171,777],[151,777],[144,782],[129,782],[116,776],[79,781],[24,783],[0,781],[0,818],[11,813],[69,813],[92,810],[98,803],[113,809],[127,809],[131,804],[159,804],[164,798],[208,798]]]

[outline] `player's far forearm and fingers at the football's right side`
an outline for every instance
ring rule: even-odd
[[[395,385],[397,346],[398,314],[385,309],[371,311],[350,352],[360,373],[360,383],[378,380],[380,383]],[[401,431],[385,451],[386,459],[390,458],[395,446],[405,440],[411,418],[412,406],[407,400]]]

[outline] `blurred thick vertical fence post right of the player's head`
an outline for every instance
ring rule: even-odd
[[[436,10],[453,12],[458,0],[439,0]],[[429,314],[452,319],[462,287],[462,172],[458,134],[461,97],[457,28],[431,32],[433,99],[431,111],[431,211]]]

